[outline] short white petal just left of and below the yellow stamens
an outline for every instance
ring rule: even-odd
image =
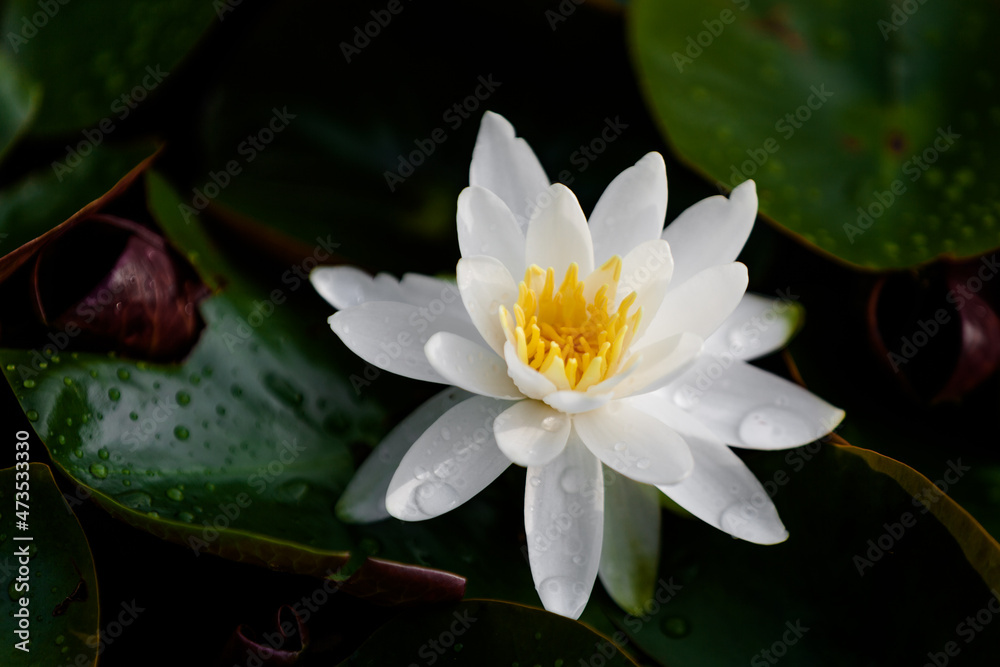
[[[524,398],[507,375],[507,362],[488,347],[441,331],[430,337],[424,353],[449,384],[491,398]]]

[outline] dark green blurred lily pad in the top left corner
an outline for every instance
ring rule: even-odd
[[[44,89],[32,132],[53,135],[96,126],[97,138],[81,134],[78,140],[93,146],[171,80],[216,19],[213,3],[196,0],[44,7],[36,0],[13,0],[0,15],[0,33],[9,57]]]

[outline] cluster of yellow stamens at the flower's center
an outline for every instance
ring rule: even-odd
[[[555,271],[532,265],[518,285],[514,317],[500,307],[500,323],[517,356],[551,380],[558,389],[585,391],[618,370],[642,309],[629,315],[632,292],[609,310],[618,290],[622,260],[605,262],[586,282],[574,262],[555,289]]]

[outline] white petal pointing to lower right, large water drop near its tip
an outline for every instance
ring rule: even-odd
[[[760,481],[705,425],[669,399],[654,395],[629,400],[677,429],[691,446],[694,470],[677,484],[660,486],[678,505],[733,537],[777,544],[788,537]]]

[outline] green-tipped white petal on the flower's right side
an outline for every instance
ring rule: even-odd
[[[733,314],[705,340],[705,354],[749,361],[781,349],[802,325],[801,304],[747,292]]]

